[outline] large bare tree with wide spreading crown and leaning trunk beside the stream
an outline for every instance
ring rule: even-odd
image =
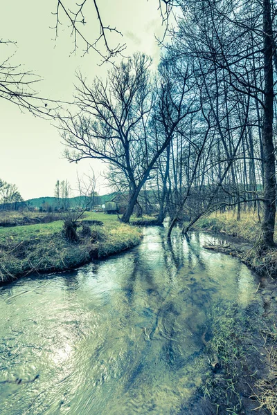
[[[190,90],[188,71],[180,73],[176,83],[164,68],[157,92],[150,79],[150,63],[145,55],[136,54],[112,68],[107,82],[96,78],[89,86],[80,77],[75,102],[79,115],[63,118],[60,126],[71,150],[66,151],[70,161],[98,158],[125,176],[129,202],[124,222],[129,221],[139,192],[170,144],[177,124],[193,111],[184,103]],[[153,116],[163,129],[159,136],[153,135]]]

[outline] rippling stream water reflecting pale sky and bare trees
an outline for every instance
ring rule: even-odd
[[[164,232],[0,288],[1,415],[186,414],[207,370],[211,310],[244,309],[258,284],[238,259],[202,248],[215,237],[176,230],[169,244]]]

